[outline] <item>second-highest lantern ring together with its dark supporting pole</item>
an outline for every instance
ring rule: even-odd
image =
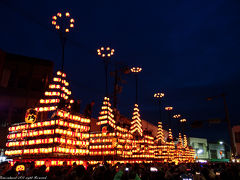
[[[103,59],[104,62],[104,68],[105,68],[105,81],[106,81],[106,97],[108,97],[108,64],[110,61],[111,56],[113,56],[115,50],[111,49],[110,47],[101,47],[97,50],[98,56],[100,56]]]

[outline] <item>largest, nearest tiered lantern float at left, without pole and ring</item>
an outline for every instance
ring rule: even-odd
[[[45,162],[44,158],[47,161],[55,158],[49,162],[51,165],[59,165],[60,161],[56,158],[85,159],[84,156],[88,155],[90,119],[70,113],[73,100],[69,98],[71,91],[68,85],[66,74],[58,71],[45,92],[45,98],[35,108],[38,122],[9,128],[7,156],[13,159],[19,156],[23,159],[42,158],[41,163]]]

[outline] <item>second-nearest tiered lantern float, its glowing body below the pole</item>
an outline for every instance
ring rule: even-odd
[[[117,126],[109,98],[105,97],[97,125],[101,132],[90,134],[90,155],[96,160],[114,160],[129,158],[132,155],[132,134],[123,127]]]

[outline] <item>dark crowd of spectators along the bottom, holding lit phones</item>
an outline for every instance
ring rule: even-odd
[[[16,171],[19,163],[0,165],[0,179],[56,179],[56,180],[240,180],[240,164],[235,163],[141,163],[110,165],[107,163],[72,166],[25,163],[23,171]]]

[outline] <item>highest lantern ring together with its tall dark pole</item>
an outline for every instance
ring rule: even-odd
[[[75,20],[70,17],[70,13],[66,12],[65,14],[57,13],[56,16],[52,17],[52,25],[59,32],[61,45],[62,45],[62,72],[64,69],[64,49],[67,40],[67,34],[71,28],[74,28]]]

